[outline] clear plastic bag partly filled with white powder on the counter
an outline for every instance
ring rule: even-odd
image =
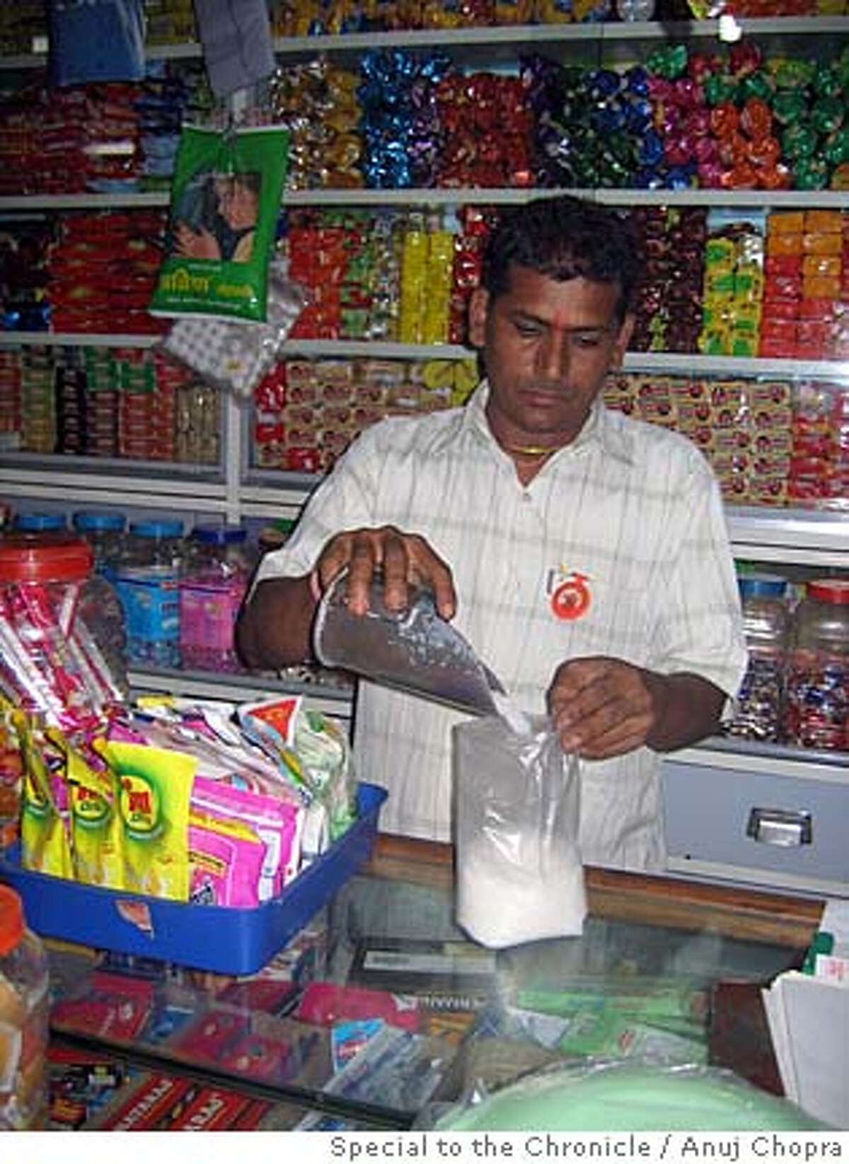
[[[453,729],[457,922],[502,949],[581,934],[578,759],[544,717]]]

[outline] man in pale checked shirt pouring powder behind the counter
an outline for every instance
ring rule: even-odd
[[[377,567],[390,608],[409,583],[430,585],[508,693],[547,707],[581,758],[583,860],[658,870],[657,753],[716,728],[745,653],[709,466],[600,400],[637,274],[613,211],[560,197],[505,215],[469,305],[486,379],[464,409],[358,438],[264,559],[239,641],[254,666],[306,658],[316,603],[345,567],[354,612]],[[389,788],[388,831],[450,837],[460,718],[361,684],[354,754]]]

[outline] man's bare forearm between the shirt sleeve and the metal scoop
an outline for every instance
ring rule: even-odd
[[[316,599],[309,575],[260,582],[236,623],[236,647],[248,667],[288,667],[312,655]]]

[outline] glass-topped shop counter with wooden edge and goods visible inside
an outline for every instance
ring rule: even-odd
[[[121,1064],[82,1124],[119,1129],[224,1126],[228,1103],[228,1127],[409,1128],[477,1080],[639,1050],[780,1091],[757,987],[801,964],[822,902],[604,870],[587,889],[581,937],[496,953],[454,924],[451,849],[383,836],[250,978],[55,947],[56,1078]]]

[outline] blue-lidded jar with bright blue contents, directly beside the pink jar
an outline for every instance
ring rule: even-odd
[[[133,521],[118,565],[130,663],[179,667],[183,523]]]

